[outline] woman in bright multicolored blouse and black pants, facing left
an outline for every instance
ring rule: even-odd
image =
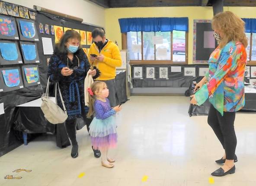
[[[214,16],[212,27],[219,45],[208,61],[209,73],[196,85],[196,93],[191,96],[194,105],[202,105],[209,98],[208,124],[225,150],[224,156],[216,161],[224,165],[214,171],[213,176],[235,173],[237,137],[234,120],[236,112],[245,104],[243,80],[247,38],[244,24],[232,12],[221,12]]]

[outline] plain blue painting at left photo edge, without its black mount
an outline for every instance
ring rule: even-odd
[[[3,59],[7,61],[18,59],[18,51],[15,43],[0,43],[0,51]]]

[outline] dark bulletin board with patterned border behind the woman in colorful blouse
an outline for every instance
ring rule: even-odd
[[[217,46],[213,33],[211,20],[194,20],[193,63],[208,63],[211,53]]]

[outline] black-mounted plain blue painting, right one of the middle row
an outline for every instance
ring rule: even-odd
[[[20,41],[24,63],[39,63],[36,43]]]

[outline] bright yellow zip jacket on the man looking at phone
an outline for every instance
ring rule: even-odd
[[[93,62],[90,60],[90,54],[96,54],[97,56],[102,54],[104,55],[104,59],[102,62],[100,62],[99,60]],[[96,46],[96,44],[93,43],[88,53],[88,59],[90,65],[96,66],[101,72],[99,78],[96,79],[100,81],[115,79],[116,67],[122,66],[122,58],[119,48],[115,43],[113,43],[110,40],[108,41],[106,46],[104,46],[104,48],[100,51],[100,53],[98,46]]]

